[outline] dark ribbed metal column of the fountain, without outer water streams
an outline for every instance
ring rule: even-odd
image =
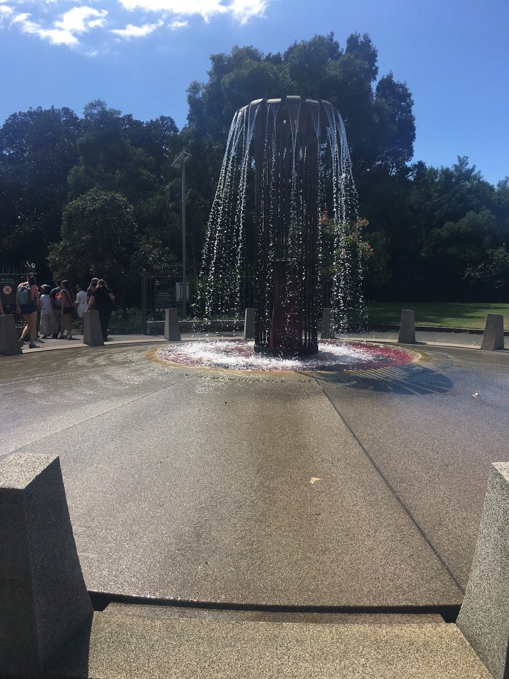
[[[327,111],[329,109],[329,111]],[[320,132],[328,102],[286,96],[246,107],[255,152],[255,350],[318,351]]]

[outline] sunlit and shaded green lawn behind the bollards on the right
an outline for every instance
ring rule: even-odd
[[[415,325],[455,328],[484,328],[487,314],[503,314],[509,330],[509,304],[474,304],[442,301],[368,302],[368,323],[399,323],[402,309],[415,311]]]

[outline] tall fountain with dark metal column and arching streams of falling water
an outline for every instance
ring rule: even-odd
[[[259,99],[237,111],[204,246],[206,318],[244,313],[240,284],[249,223],[257,234],[255,352],[315,354],[326,208],[334,225],[331,306],[336,330],[345,331],[352,309],[358,317],[362,307],[362,271],[352,242],[358,204],[341,115],[331,103],[298,96]]]

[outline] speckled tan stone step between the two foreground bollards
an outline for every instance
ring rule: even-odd
[[[219,611],[214,614],[217,616]],[[250,617],[245,611],[242,614]],[[269,622],[175,615],[176,611],[171,609],[118,604],[96,612],[91,629],[75,639],[74,645],[67,648],[68,660],[55,667],[49,676],[67,679],[491,677],[457,626],[436,616],[342,615],[340,623],[331,623],[327,617],[320,618],[320,622]]]

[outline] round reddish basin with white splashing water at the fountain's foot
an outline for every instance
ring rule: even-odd
[[[255,343],[245,340],[214,340],[172,344],[157,359],[202,368],[255,371],[337,371],[385,368],[411,363],[415,356],[400,348],[325,339],[318,353],[298,358],[279,358],[255,353]]]

